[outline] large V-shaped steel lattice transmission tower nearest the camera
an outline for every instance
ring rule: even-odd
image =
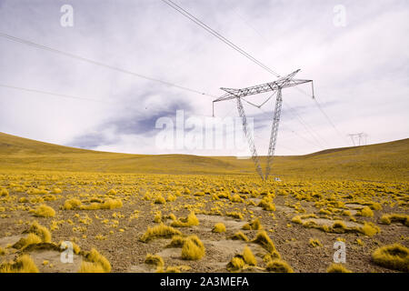
[[[248,146],[250,147],[250,152],[252,154],[252,159],[254,161],[255,170],[257,174],[262,179],[265,179],[265,180],[267,180],[268,176],[270,175],[271,166],[272,166],[273,157],[274,157],[275,144],[277,142],[278,125],[280,124],[281,107],[283,104],[282,90],[284,88],[293,87],[295,85],[300,85],[300,84],[311,82],[312,89],[313,89],[313,98],[314,98],[313,80],[295,79],[294,75],[296,75],[299,71],[300,70],[296,70],[289,75],[280,77],[278,80],[274,82],[265,83],[262,85],[254,85],[254,86],[246,87],[243,89],[221,88],[226,93],[213,101],[213,115],[214,115],[214,103],[215,102],[236,99],[238,113],[240,117],[242,117],[244,135],[246,136]],[[275,98],[273,124],[271,127],[270,143],[268,146],[267,161],[266,161],[266,166],[265,166],[265,175],[263,175],[263,169],[262,169],[262,166],[260,165],[260,159],[257,155],[257,149],[255,148],[255,145],[254,145],[253,135],[249,131],[249,128],[247,125],[247,117],[244,112],[242,98],[249,96],[249,95],[257,95],[257,94],[262,94],[266,92],[273,92],[274,94],[276,94],[276,98]]]

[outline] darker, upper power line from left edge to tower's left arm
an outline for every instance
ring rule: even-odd
[[[207,94],[207,93],[204,93],[204,92],[201,92],[201,91],[198,91],[198,90],[195,90],[195,89],[183,86],[183,85],[176,85],[174,83],[170,83],[170,82],[167,82],[167,81],[164,81],[164,80],[156,79],[156,78],[151,77],[151,76],[141,75],[141,74],[138,74],[138,73],[135,73],[135,72],[131,72],[131,71],[122,69],[122,68],[118,68],[118,67],[115,67],[113,65],[106,65],[104,63],[94,61],[92,59],[89,59],[89,58],[86,58],[86,57],[83,57],[83,56],[80,56],[80,55],[74,55],[74,54],[71,54],[71,53],[61,51],[59,49],[55,49],[55,48],[50,47],[50,46],[36,44],[34,42],[31,42],[31,41],[28,41],[28,40],[25,40],[25,39],[22,39],[22,38],[19,38],[19,37],[15,37],[13,35],[6,35],[6,34],[0,32],[0,36],[4,37],[7,40],[14,41],[16,43],[20,43],[20,44],[24,44],[24,45],[30,45],[30,46],[33,46],[35,48],[43,49],[45,51],[52,52],[52,53],[55,53],[55,54],[58,54],[58,55],[65,55],[67,57],[74,58],[76,60],[83,61],[83,62],[92,64],[92,65],[103,66],[103,67],[105,67],[107,69],[114,70],[114,71],[117,71],[117,72],[120,72],[120,73],[123,73],[123,74],[126,74],[126,75],[133,75],[133,76],[143,78],[143,79],[148,80],[148,81],[160,83],[162,85],[172,86],[172,87],[175,87],[175,88],[178,88],[178,89],[181,89],[181,90],[185,90],[185,91],[189,91],[189,92],[199,94],[199,95],[207,95],[207,96],[210,96],[212,98],[215,97],[214,95]]]

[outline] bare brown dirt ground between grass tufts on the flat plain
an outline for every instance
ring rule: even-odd
[[[154,266],[145,264],[147,254],[162,256],[165,266],[184,266],[185,272],[226,272],[227,264],[243,252],[244,246],[252,250],[257,266],[242,271],[266,272],[262,258],[266,251],[251,242],[258,230],[243,229],[244,224],[255,218],[259,218],[281,258],[294,272],[326,272],[334,261],[337,240],[345,243],[344,266],[351,271],[395,272],[375,265],[372,253],[380,246],[394,243],[409,246],[408,226],[399,222],[381,223],[381,216],[385,214],[408,215],[407,183],[292,180],[264,185],[254,177],[71,174],[54,179],[47,175],[22,175],[18,181],[3,176],[1,182],[8,196],[0,197],[0,247],[5,250],[0,262],[15,260],[19,256],[21,250],[12,245],[25,236],[23,232],[35,220],[51,230],[55,243],[73,241],[82,250],[97,249],[111,263],[112,272],[155,272]],[[25,188],[22,191],[18,186]],[[45,193],[27,194],[33,187],[43,188]],[[60,188],[61,193],[53,194],[55,187]],[[115,193],[109,193],[111,189],[115,189]],[[196,196],[198,192],[204,194]],[[221,193],[228,197],[220,197]],[[175,196],[175,200],[168,199],[169,195]],[[234,201],[234,195],[243,200]],[[52,198],[47,199],[47,196]],[[155,203],[158,196],[168,201]],[[272,198],[275,210],[258,206],[266,196]],[[65,201],[73,197],[84,204],[93,197],[109,197],[120,199],[123,206],[115,209],[63,209]],[[337,201],[340,203],[336,204]],[[55,216],[35,216],[33,210],[44,204],[55,209]],[[359,215],[364,206],[371,208],[372,216]],[[140,238],[147,227],[159,225],[154,222],[157,211],[161,211],[162,216],[173,214],[178,218],[194,211],[199,225],[177,229],[185,236],[198,236],[205,245],[205,256],[196,261],[182,259],[180,247],[166,247],[170,238],[142,242]],[[229,215],[232,212],[243,218],[234,218]],[[301,216],[302,223],[294,222],[294,216]],[[172,221],[162,219],[165,225]],[[314,227],[304,225],[308,221],[314,221]],[[358,231],[336,233],[320,228],[332,226],[334,221],[342,221],[350,229],[372,222],[379,227],[379,232],[366,236]],[[224,224],[225,233],[212,232],[216,223]],[[231,239],[239,231],[250,241]],[[312,238],[322,246],[311,246]],[[62,264],[60,254],[52,250],[33,251],[30,256],[40,272],[76,272],[82,260],[82,256],[75,255],[73,264]],[[44,261],[48,263],[44,265]]]

